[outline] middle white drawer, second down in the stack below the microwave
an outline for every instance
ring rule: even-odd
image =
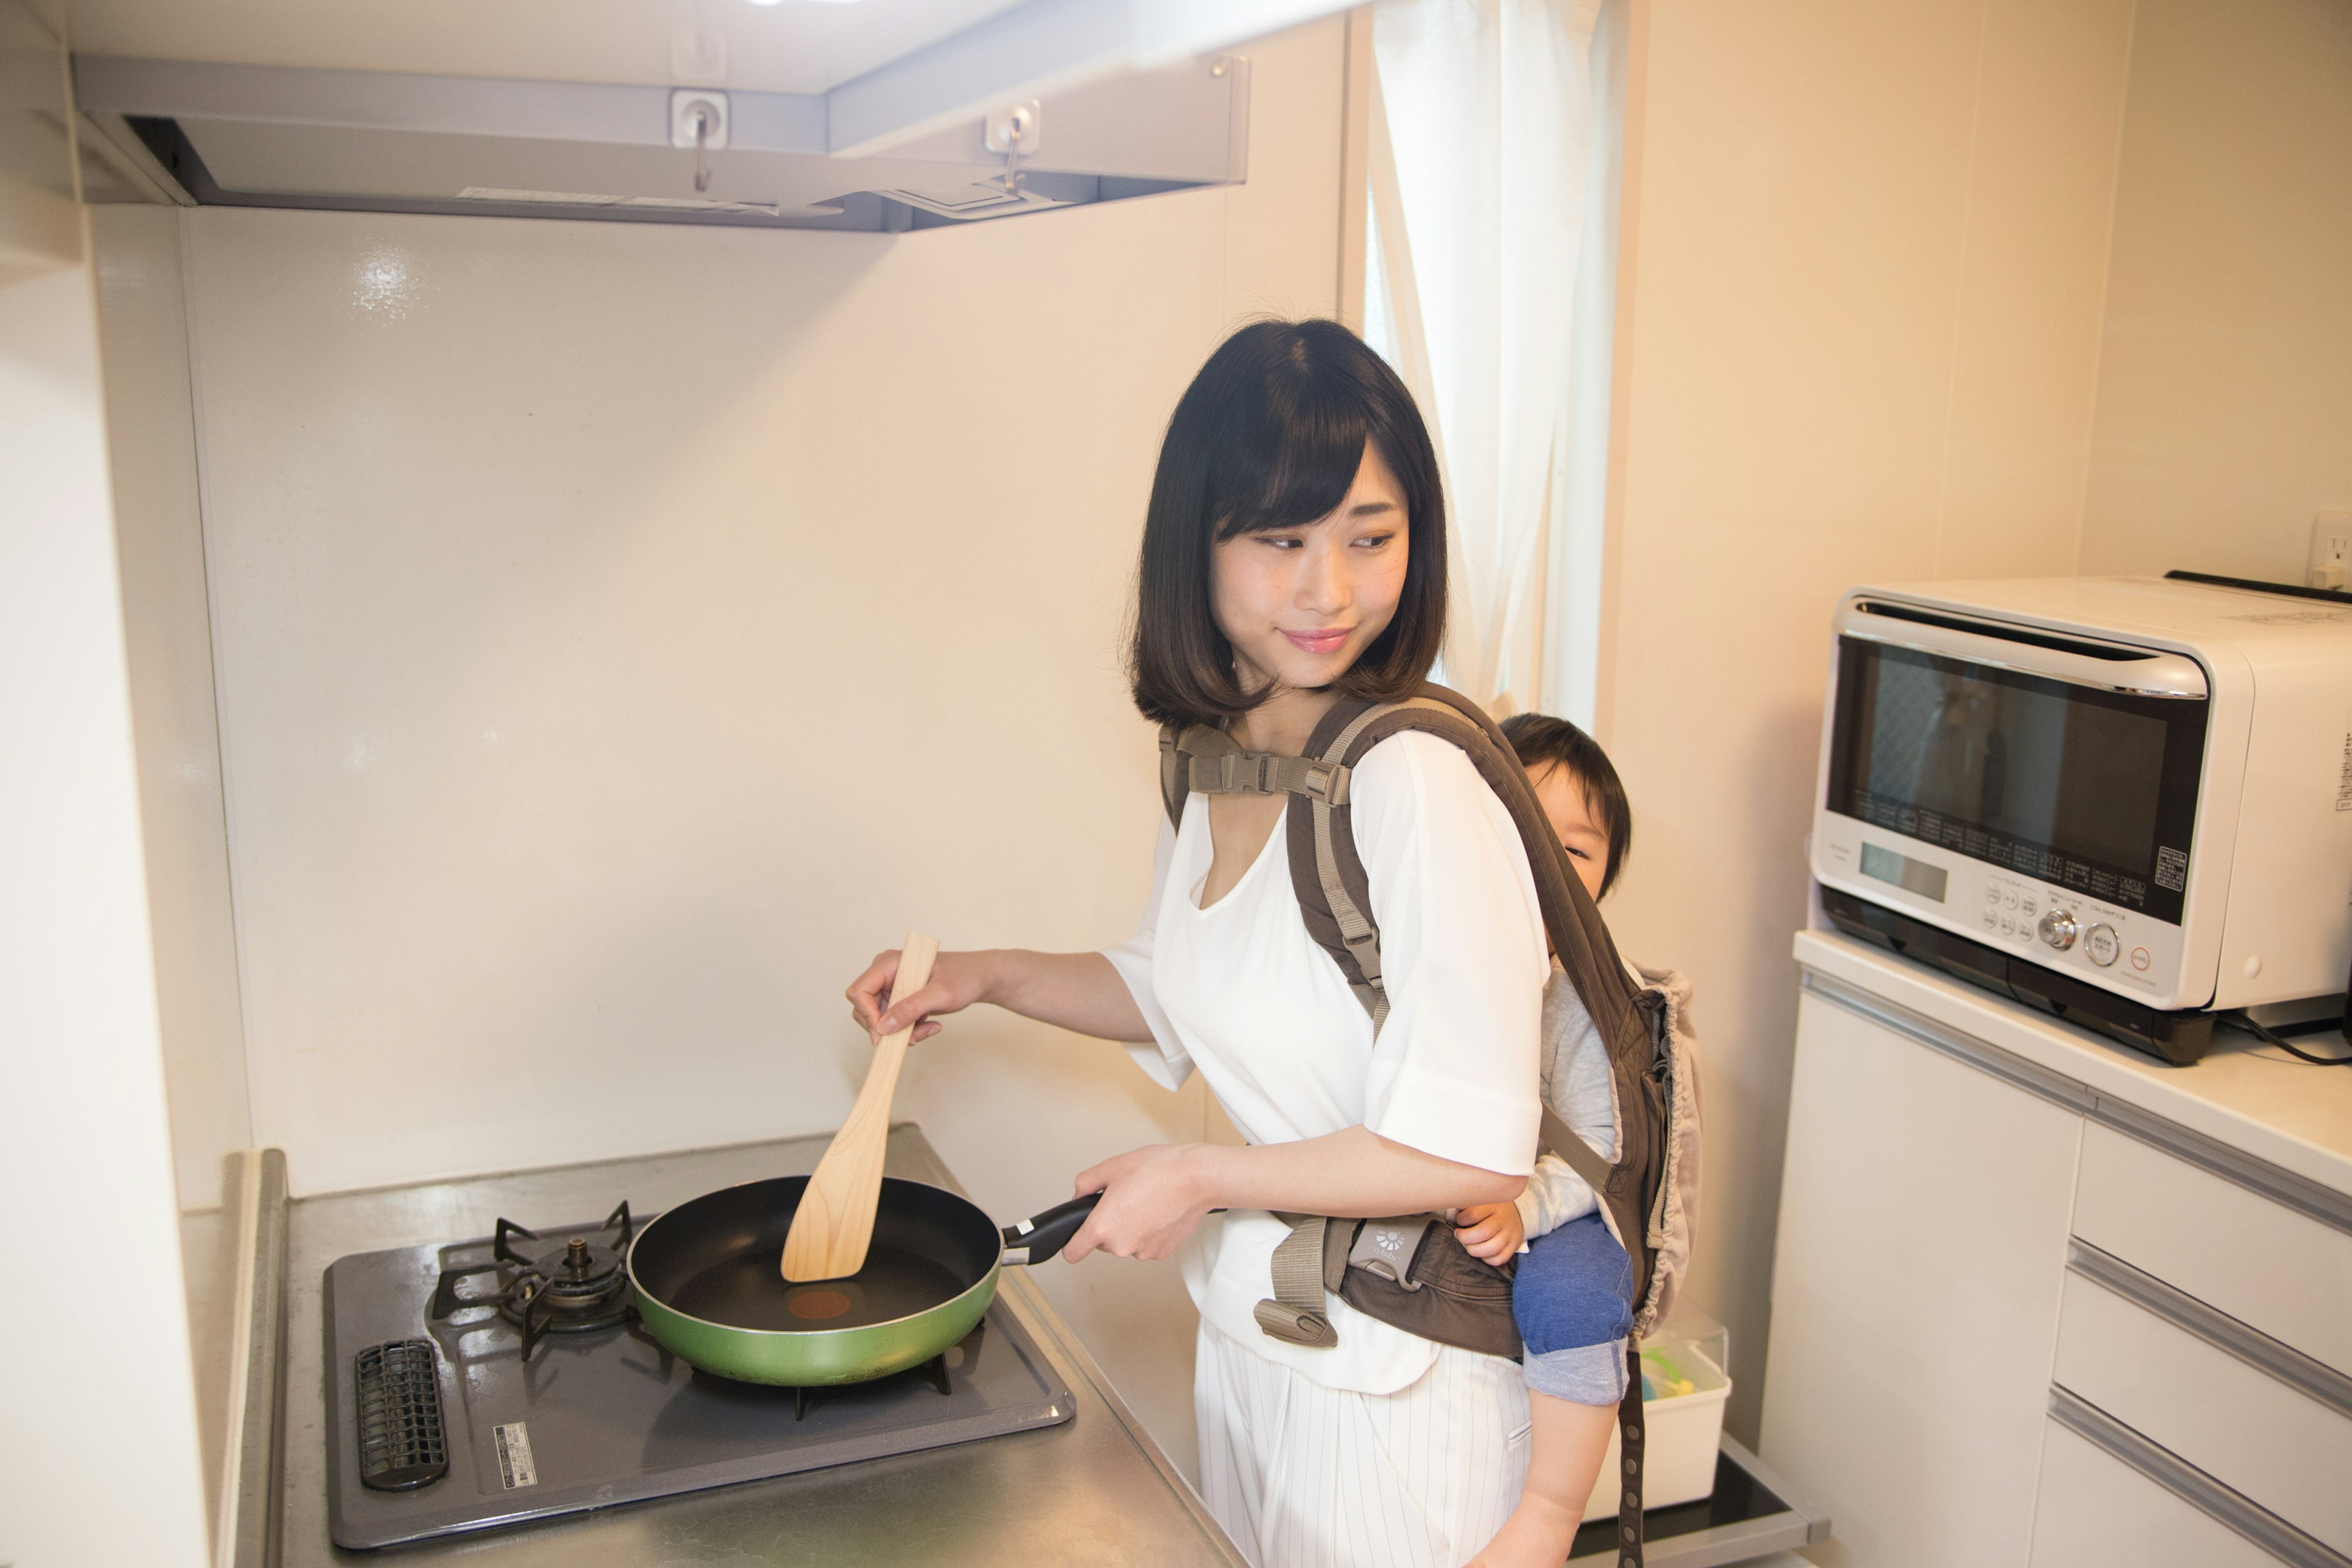
[[[2077,1255],[2053,1382],[2314,1540],[2352,1552],[2352,1399],[2336,1387],[2347,1380],[2317,1363],[2296,1368],[2293,1352],[2265,1347],[2216,1312],[2199,1319],[2194,1302],[2166,1295],[2176,1293],[2133,1281],[2112,1260]],[[2303,1378],[2288,1382],[2298,1371]]]

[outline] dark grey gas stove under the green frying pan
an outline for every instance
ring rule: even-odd
[[[649,1215],[647,1215],[649,1218]],[[388,1547],[1051,1427],[1077,1401],[995,1305],[931,1363],[776,1389],[694,1371],[635,1319],[642,1220],[355,1253],[322,1288],[327,1523]]]

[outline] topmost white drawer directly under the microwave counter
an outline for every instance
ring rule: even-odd
[[[2352,1375],[2352,1234],[2096,1121],[2074,1234]]]

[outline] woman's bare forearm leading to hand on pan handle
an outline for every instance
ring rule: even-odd
[[[1192,1145],[1195,1180],[1209,1206],[1376,1218],[1508,1204],[1526,1185],[1350,1126],[1298,1143]]]

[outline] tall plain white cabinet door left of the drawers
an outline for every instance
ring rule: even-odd
[[[1764,1450],[1830,1488],[1858,1561],[2023,1561],[2079,1143],[2079,1117],[1804,997]]]

